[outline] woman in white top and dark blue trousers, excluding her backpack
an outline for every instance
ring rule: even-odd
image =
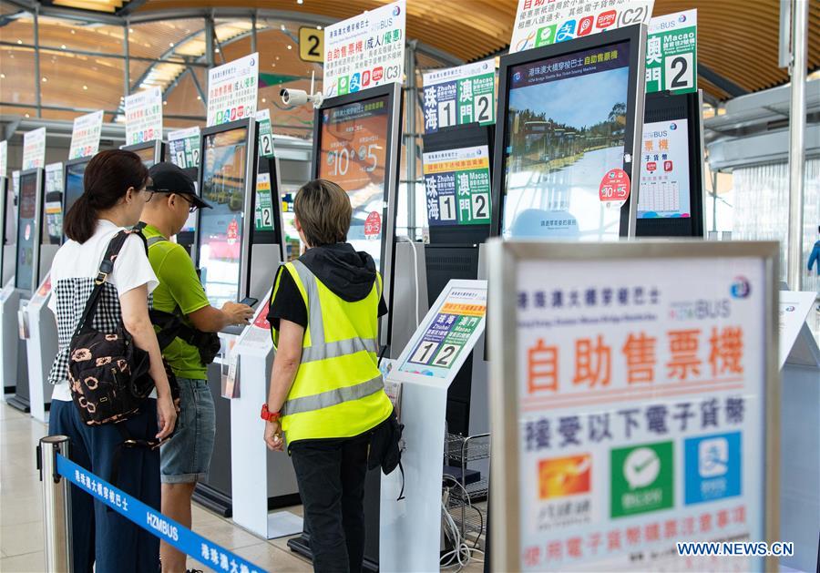
[[[88,162],[85,190],[67,212],[64,229],[68,240],[56,252],[51,266],[54,291],[48,307],[56,316],[59,352],[48,378],[54,384],[48,433],[67,435],[71,460],[104,479],[111,476],[117,464],[115,452],[119,450],[116,486],[159,508],[159,450],[120,448],[123,438],[114,424],[84,424],[68,387],[69,343],[94,290],[100,262],[108,242],[120,230],[138,222],[149,198],[149,182],[148,170],[135,153],[102,151]],[[157,336],[149,320],[149,292],[156,286],[145,243],[134,234],[125,241],[103,285],[94,320],[95,328],[109,331],[121,321],[134,343],[149,353],[149,373],[156,393],[145,401],[138,415],[119,423],[126,426],[133,439],[145,441],[168,437],[177,418]],[[157,570],[159,538],[108,510],[76,486],[71,491],[71,517],[76,573]]]

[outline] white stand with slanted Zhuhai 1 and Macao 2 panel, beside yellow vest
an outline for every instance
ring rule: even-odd
[[[487,281],[449,281],[387,375],[399,384],[402,473],[382,476],[379,568],[437,571],[447,388],[482,339]]]

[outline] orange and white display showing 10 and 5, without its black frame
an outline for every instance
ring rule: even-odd
[[[381,266],[387,211],[385,159],[390,129],[388,96],[323,109],[319,178],[347,191],[353,218],[347,240]]]

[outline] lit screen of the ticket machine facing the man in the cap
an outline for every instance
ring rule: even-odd
[[[205,294],[221,308],[240,298],[248,129],[203,137],[202,196],[213,209],[199,210],[199,264]]]

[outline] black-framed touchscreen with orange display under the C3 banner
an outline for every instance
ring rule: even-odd
[[[373,87],[324,100],[313,120],[313,177],[334,181],[349,194],[353,217],[347,240],[356,251],[373,256],[388,306],[393,293],[401,101],[401,86]]]

